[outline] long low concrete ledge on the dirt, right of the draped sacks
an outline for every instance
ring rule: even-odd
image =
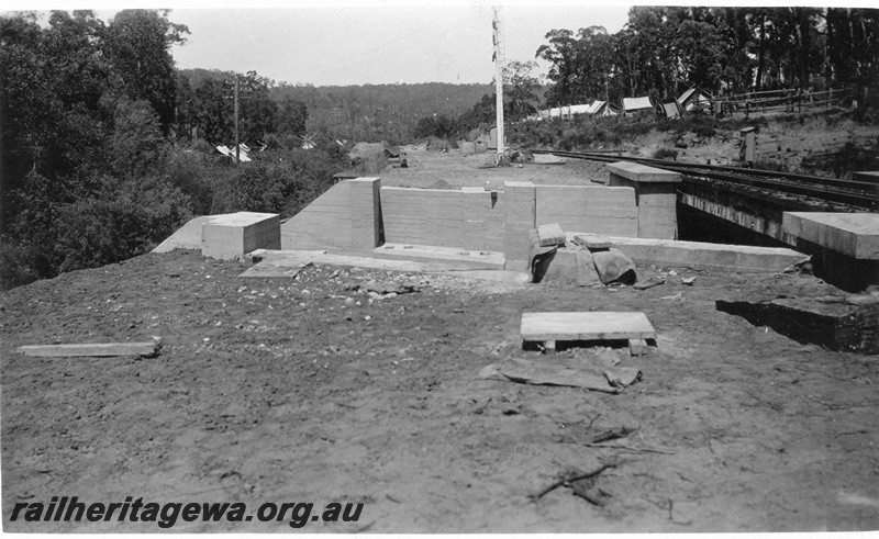
[[[568,233],[589,237],[590,234]],[[776,272],[805,262],[808,255],[785,247],[708,244],[677,239],[608,237],[614,247],[639,265],[689,267],[715,271]]]

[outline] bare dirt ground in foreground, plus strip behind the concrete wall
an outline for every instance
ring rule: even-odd
[[[437,179],[480,184],[498,172],[453,161],[448,170],[464,171]],[[503,173],[589,172],[528,167],[539,166]],[[416,181],[398,172],[413,170],[389,171],[383,183]],[[299,280],[238,277],[247,267],[178,250],[0,294],[5,531],[160,531],[9,521],[16,503],[54,495],[364,503],[357,523],[302,529],[331,532],[879,528],[879,357],[795,343],[714,308],[719,299],[842,294],[812,276],[679,268],[636,291],[330,267]],[[680,282],[693,276],[693,287]],[[420,290],[371,303],[346,290],[372,279]],[[522,349],[521,314],[537,311],[646,313],[658,334],[646,356],[561,352],[613,356],[643,380],[612,395],[478,379],[504,359],[553,360]],[[153,336],[163,339],[154,358],[14,351]],[[634,431],[607,448],[585,445],[620,427]],[[528,497],[571,467],[602,463],[616,467],[597,480],[611,495],[601,507],[567,487]],[[174,530],[291,528],[178,521]]]

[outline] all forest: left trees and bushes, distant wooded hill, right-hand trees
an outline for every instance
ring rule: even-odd
[[[511,136],[534,106],[665,101],[692,85],[715,94],[847,87],[858,121],[879,121],[877,10],[636,7],[615,34],[585,24],[547,29],[535,57],[550,66],[548,86],[532,58],[505,66]],[[351,167],[335,139],[455,141],[493,123],[490,80],[316,88],[178,70],[171,45],[188,33],[166,10],[108,22],[91,11],[0,14],[0,285],[123,260],[191,215],[292,215]],[[234,145],[235,80],[240,138],[255,149],[238,166],[215,149]],[[602,136],[624,135],[614,125]],[[519,136],[576,145],[596,132],[585,121],[550,127]],[[301,149],[305,136],[315,148]]]

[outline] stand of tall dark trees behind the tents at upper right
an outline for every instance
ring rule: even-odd
[[[668,101],[696,85],[716,94],[875,86],[879,78],[875,9],[642,5],[615,34],[572,25],[546,40],[536,54],[550,64],[552,106]]]

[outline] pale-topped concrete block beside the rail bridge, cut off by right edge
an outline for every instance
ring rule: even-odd
[[[781,229],[859,260],[879,260],[879,213],[785,212]]]

